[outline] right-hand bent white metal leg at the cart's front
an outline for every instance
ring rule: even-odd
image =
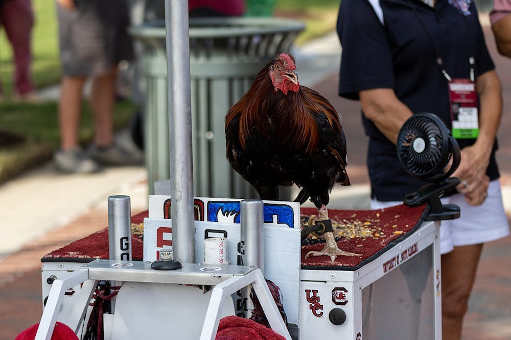
[[[268,319],[271,328],[286,339],[291,339],[284,320],[278,311],[273,300],[266,280],[258,268],[244,276],[234,276],[222,283],[217,284],[211,294],[210,304],[207,307],[204,326],[200,334],[200,340],[214,340],[217,334],[218,324],[220,323],[220,306],[222,301],[231,294],[239,291],[243,287],[252,284],[252,287],[259,298],[263,311]]]

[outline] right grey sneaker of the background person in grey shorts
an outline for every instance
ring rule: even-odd
[[[120,145],[113,144],[107,147],[92,145],[88,154],[91,159],[103,165],[143,165],[144,155],[129,151]]]

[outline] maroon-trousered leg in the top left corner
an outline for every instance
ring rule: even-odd
[[[27,96],[26,99],[35,99],[30,71],[32,60],[30,40],[34,25],[30,0],[6,1],[2,11],[5,32],[14,52],[14,88],[22,99],[24,96]]]

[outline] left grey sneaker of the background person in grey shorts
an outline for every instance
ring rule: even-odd
[[[94,173],[100,170],[98,163],[88,158],[80,147],[57,150],[53,162],[57,170],[66,173]]]

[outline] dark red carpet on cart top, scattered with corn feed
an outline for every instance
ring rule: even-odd
[[[340,249],[361,256],[338,256],[332,264],[327,256],[305,258],[311,250],[321,250],[324,242],[308,238],[301,249],[303,269],[356,270],[371,259],[379,256],[387,248],[406,238],[410,231],[422,223],[427,214],[427,205],[409,207],[404,204],[379,210],[329,210],[334,225],[334,235]],[[315,208],[302,208],[303,224],[317,214]],[[132,224],[141,224],[148,212],[131,218]],[[132,235],[133,260],[143,259],[143,241]],[[108,228],[93,233],[65,247],[45,255],[41,261],[90,262],[92,259],[108,259]]]

